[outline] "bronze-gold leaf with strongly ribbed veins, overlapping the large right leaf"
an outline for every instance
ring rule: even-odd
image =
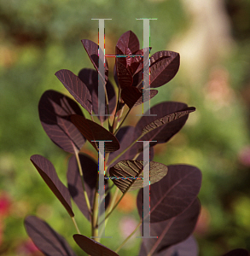
[[[150,184],[154,184],[166,176],[167,166],[152,161],[149,162],[149,166]],[[141,189],[143,187],[143,177],[146,177],[143,173],[143,161],[122,160],[109,169],[109,176],[113,177],[113,183],[122,193],[127,189]]]

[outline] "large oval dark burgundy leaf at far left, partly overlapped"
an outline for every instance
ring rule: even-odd
[[[55,90],[46,90],[38,104],[39,118],[44,131],[58,147],[74,154],[79,151],[85,138],[73,125],[70,115],[83,115],[78,104]]]

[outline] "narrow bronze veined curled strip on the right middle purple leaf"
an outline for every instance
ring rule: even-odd
[[[183,110],[179,110],[174,113],[167,114],[166,116],[160,119],[154,119],[154,121],[148,125],[146,125],[142,129],[142,134],[147,134],[149,131],[153,131],[154,129],[160,127],[161,125],[166,125],[176,119],[182,118],[184,115],[192,113],[195,111],[195,107],[184,108]]]

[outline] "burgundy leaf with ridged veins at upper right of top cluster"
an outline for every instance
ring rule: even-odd
[[[180,55],[174,51],[161,50],[150,57],[150,88],[168,83],[180,66]]]

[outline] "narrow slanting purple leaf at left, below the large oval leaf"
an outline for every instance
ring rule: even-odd
[[[39,154],[33,154],[31,157],[32,164],[37,168],[44,182],[47,183],[49,189],[55,194],[55,196],[61,201],[61,204],[66,208],[68,214],[73,217],[73,211],[71,208],[70,194],[67,187],[61,183],[61,180],[55,172],[55,167],[44,156]]]

